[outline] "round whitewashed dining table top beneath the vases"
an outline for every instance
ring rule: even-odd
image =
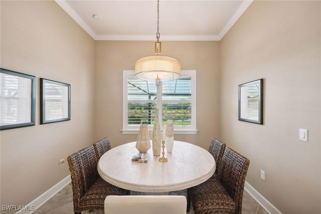
[[[147,162],[132,161],[139,154],[136,142],[125,143],[104,153],[98,161],[98,173],[107,182],[132,191],[170,192],[186,189],[209,179],[216,163],[204,148],[174,141],[173,151],[165,152],[167,162],[147,151]],[[165,149],[166,150],[166,149]]]

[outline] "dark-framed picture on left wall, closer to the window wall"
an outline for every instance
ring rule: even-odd
[[[40,78],[40,124],[70,120],[70,84]]]

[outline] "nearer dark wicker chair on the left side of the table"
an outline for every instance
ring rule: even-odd
[[[97,171],[98,158],[93,145],[68,156],[73,189],[74,211],[104,210],[107,195],[127,195],[128,190],[111,185]]]

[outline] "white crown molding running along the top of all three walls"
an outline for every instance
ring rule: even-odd
[[[231,19],[223,27],[218,35],[162,35],[162,41],[220,41],[242,16],[254,0],[245,0],[236,10]],[[154,41],[155,35],[99,35],[96,34],[87,23],[74,11],[66,0],[55,2],[86,31],[94,40],[120,40],[120,41]]]

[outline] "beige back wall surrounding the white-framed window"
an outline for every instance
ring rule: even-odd
[[[177,134],[208,148],[219,134],[219,42],[162,42],[163,55],[181,61],[182,70],[197,70],[197,134]],[[135,61],[153,54],[154,42],[96,41],[95,138],[109,136],[111,146],[135,141],[122,134],[122,73],[134,70]]]

